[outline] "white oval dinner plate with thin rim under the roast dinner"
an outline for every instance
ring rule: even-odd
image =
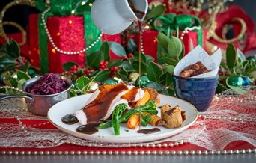
[[[189,102],[171,96],[160,95],[161,102],[159,106],[168,104],[171,105],[171,107],[174,107],[175,105],[179,105],[182,111],[186,111],[186,120],[183,122],[183,126],[175,129],[166,129],[163,126],[157,126],[157,128],[161,129],[161,132],[145,135],[137,133],[138,127],[137,129],[132,130],[128,129],[125,123],[121,123],[120,135],[118,136],[114,135],[112,127],[108,129],[100,129],[99,132],[96,132],[93,135],[83,134],[76,132],[76,128],[81,126],[80,123],[67,125],[62,123],[61,117],[64,117],[67,114],[73,114],[75,111],[83,108],[89,96],[91,96],[91,94],[76,96],[53,105],[48,111],[49,121],[58,129],[61,129],[67,134],[91,141],[100,141],[105,143],[139,143],[168,138],[189,128],[189,126],[192,126],[192,124],[195,123],[195,120],[198,118],[198,111],[196,110],[195,106]],[[160,114],[161,111],[158,113],[159,117]],[[154,127],[156,126],[147,125],[146,127],[141,126],[141,129],[152,129]]]

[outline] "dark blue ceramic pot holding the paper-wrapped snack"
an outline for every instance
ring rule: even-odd
[[[219,76],[209,78],[183,78],[174,76],[177,96],[195,105],[198,111],[206,111],[215,95]]]

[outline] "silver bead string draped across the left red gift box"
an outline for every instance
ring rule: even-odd
[[[97,37],[97,39],[94,41],[94,43],[91,43],[91,45],[88,46],[88,47],[85,48],[85,49],[81,49],[81,50],[76,51],[76,52],[66,52],[66,51],[64,51],[64,50],[61,50],[61,49],[59,49],[59,48],[56,46],[56,44],[55,44],[54,41],[52,40],[51,34],[49,33],[49,30],[48,30],[47,25],[46,25],[45,15],[46,15],[46,13],[49,12],[49,10],[50,10],[50,7],[49,7],[48,9],[46,9],[45,11],[43,11],[43,13],[42,13],[42,22],[43,22],[43,27],[44,27],[45,30],[46,30],[46,34],[47,34],[47,36],[48,36],[49,42],[52,44],[53,48],[54,48],[57,52],[61,52],[61,53],[65,54],[65,55],[77,55],[77,54],[79,54],[79,53],[86,52],[86,51],[88,51],[89,49],[91,49],[96,43],[98,43],[98,42],[100,41],[101,37],[103,36],[103,33],[101,33],[101,34],[99,35],[99,37]]]

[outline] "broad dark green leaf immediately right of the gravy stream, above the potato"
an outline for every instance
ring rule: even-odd
[[[159,76],[162,75],[162,69],[154,63],[153,61],[150,61],[150,63],[147,65],[147,78],[150,81],[153,82],[159,82]]]

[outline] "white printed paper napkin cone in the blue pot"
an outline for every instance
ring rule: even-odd
[[[192,76],[191,78],[205,78],[216,76],[219,71],[219,64],[222,61],[222,51],[218,49],[213,55],[208,55],[207,52],[201,47],[196,46],[189,54],[187,54],[174,68],[174,75],[180,76],[180,72],[184,70],[185,67],[195,64],[196,62],[201,61],[207,70],[211,70],[208,73],[202,73],[198,76]]]

